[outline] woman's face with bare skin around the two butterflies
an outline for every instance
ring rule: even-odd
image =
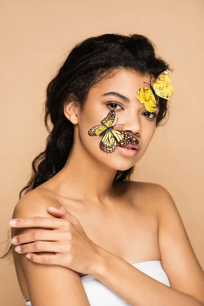
[[[124,69],[117,70],[114,77],[101,81],[90,89],[85,107],[78,114],[78,133],[82,146],[100,163],[115,169],[126,170],[134,166],[144,155],[148,144],[156,129],[156,117],[149,113],[144,104],[136,97],[137,89],[149,87],[143,82],[149,83],[150,77],[141,77],[136,72]],[[151,80],[151,84],[154,79]],[[157,100],[158,101],[158,100]],[[120,148],[113,152],[105,152],[99,147],[103,136],[89,136],[88,130],[92,126],[101,124],[107,114],[114,110],[116,114],[114,130],[127,132],[139,140],[139,150],[134,156],[126,156]],[[159,113],[156,109],[155,115]],[[75,132],[74,132],[75,133]],[[129,150],[129,149],[127,149]]]

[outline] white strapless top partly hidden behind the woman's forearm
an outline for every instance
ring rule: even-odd
[[[152,260],[147,262],[142,262],[138,264],[133,264],[143,273],[148,276],[155,278],[157,281],[170,287],[169,279],[162,268],[161,261]],[[112,292],[103,283],[99,282],[97,278],[92,275],[81,276],[81,281],[86,291],[89,303],[91,306],[124,306],[130,305],[124,301],[121,297]],[[26,304],[32,306],[31,301],[26,301]]]

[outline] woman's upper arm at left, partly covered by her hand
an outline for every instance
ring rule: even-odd
[[[47,212],[48,205],[50,203],[42,195],[30,192],[17,203],[12,218],[50,218],[52,216]],[[43,229],[39,228],[40,231]],[[25,232],[36,232],[36,228],[12,227],[12,237]],[[36,264],[26,258],[25,253],[17,253],[15,247],[12,245],[15,266],[19,266],[24,274],[32,306],[90,306],[78,272],[57,265]],[[50,255],[50,252],[47,254]]]

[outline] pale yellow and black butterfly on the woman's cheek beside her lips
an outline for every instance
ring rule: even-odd
[[[117,144],[119,146],[124,147],[125,145],[139,143],[137,138],[135,138],[131,134],[119,130],[113,130],[113,127],[116,126],[116,124],[111,126],[114,120],[115,120],[115,111],[111,110],[108,113],[108,115],[103,120],[100,121],[101,124],[94,125],[88,131],[89,136],[97,136],[97,135],[103,136],[99,144],[101,150],[104,150],[105,152],[114,152]],[[124,124],[117,124],[117,125],[124,125]]]

